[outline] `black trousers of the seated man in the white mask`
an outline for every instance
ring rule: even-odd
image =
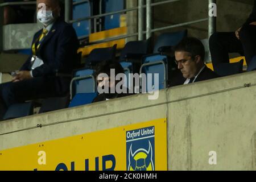
[[[68,93],[70,78],[35,77],[19,82],[0,84],[0,120],[10,105]],[[65,85],[64,85],[65,84]]]

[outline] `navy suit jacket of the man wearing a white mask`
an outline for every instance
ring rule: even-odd
[[[32,44],[39,39],[42,31],[36,32]],[[72,73],[78,61],[78,48],[79,40],[74,28],[64,20],[57,19],[36,53],[44,64],[32,71],[33,77],[52,77],[56,75],[56,72]],[[31,70],[31,57],[32,55],[20,68],[21,71]]]

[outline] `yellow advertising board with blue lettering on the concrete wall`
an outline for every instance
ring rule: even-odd
[[[167,119],[3,150],[0,170],[167,170]]]

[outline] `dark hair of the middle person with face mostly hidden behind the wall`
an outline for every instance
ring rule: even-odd
[[[97,64],[95,75],[97,77],[98,75],[100,75],[100,73],[106,73],[108,76],[110,76],[111,69],[115,69],[115,76],[119,73],[124,73],[123,67],[120,63],[114,60],[105,60]]]

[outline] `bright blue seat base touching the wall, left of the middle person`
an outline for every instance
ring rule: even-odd
[[[78,93],[72,99],[71,103],[69,104],[69,107],[76,107],[76,106],[90,104],[90,103],[92,103],[92,101],[94,100],[94,98],[96,96],[97,96],[97,92]]]

